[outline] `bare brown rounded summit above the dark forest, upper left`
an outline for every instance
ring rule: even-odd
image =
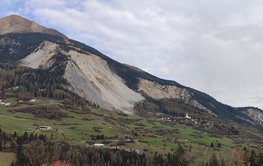
[[[46,28],[31,20],[18,15],[10,15],[0,19],[0,35],[8,33],[30,33],[38,32],[67,38],[57,30]]]

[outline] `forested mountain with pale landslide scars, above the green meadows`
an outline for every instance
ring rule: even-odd
[[[191,112],[197,118],[206,116],[263,129],[263,111],[258,108],[222,104],[198,90],[119,63],[20,16],[1,19],[0,32],[0,62],[15,65],[14,70],[21,68],[14,72],[20,75],[0,86],[3,93],[22,87],[35,96],[76,96],[107,110],[175,116]]]

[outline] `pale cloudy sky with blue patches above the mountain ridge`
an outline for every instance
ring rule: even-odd
[[[0,0],[122,63],[263,108],[262,0]]]

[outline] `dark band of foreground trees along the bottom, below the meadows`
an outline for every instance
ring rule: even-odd
[[[7,134],[0,129],[0,151],[15,152],[16,162],[12,166],[50,165],[60,161],[74,166],[187,166],[185,152],[181,146],[174,153],[153,157],[145,153],[120,149],[95,148],[70,145],[67,142],[49,140],[43,134]]]

